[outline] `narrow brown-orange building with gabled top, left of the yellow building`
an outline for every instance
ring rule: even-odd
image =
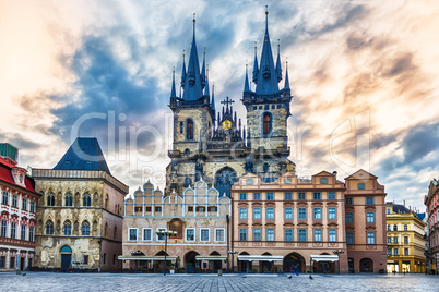
[[[385,192],[378,178],[358,170],[345,178],[346,245],[349,270],[387,268]]]

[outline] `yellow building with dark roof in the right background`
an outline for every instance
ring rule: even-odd
[[[424,214],[388,203],[388,272],[425,272]]]

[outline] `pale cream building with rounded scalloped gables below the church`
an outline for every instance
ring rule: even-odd
[[[150,182],[124,200],[123,268],[212,270],[226,267],[230,198],[203,181],[181,194],[164,194]],[[157,231],[175,231],[165,247]],[[165,248],[166,252],[165,252]]]

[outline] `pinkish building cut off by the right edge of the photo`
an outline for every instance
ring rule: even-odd
[[[439,264],[439,181],[432,179],[428,185],[428,194],[424,198],[426,206],[427,236],[429,248],[426,251],[427,265],[430,272],[438,272]]]

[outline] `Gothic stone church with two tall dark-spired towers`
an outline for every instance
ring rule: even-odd
[[[268,12],[265,35],[260,62],[257,53],[252,72],[254,92],[250,90],[246,72],[242,104],[247,109],[247,130],[237,119],[228,97],[216,112],[214,93],[210,93],[205,53],[200,71],[193,39],[186,68],[185,56],[180,95],[176,94],[175,75],[169,107],[174,113],[174,144],[168,156],[165,193],[181,194],[185,187],[203,180],[221,194],[229,196],[232,185],[246,172],[260,174],[264,181],[273,181],[286,171],[294,172],[295,165],[287,159],[287,119],[292,100],[288,72],[285,85],[282,81],[280,50],[276,64],[269,37]],[[217,114],[216,114],[217,113]]]

